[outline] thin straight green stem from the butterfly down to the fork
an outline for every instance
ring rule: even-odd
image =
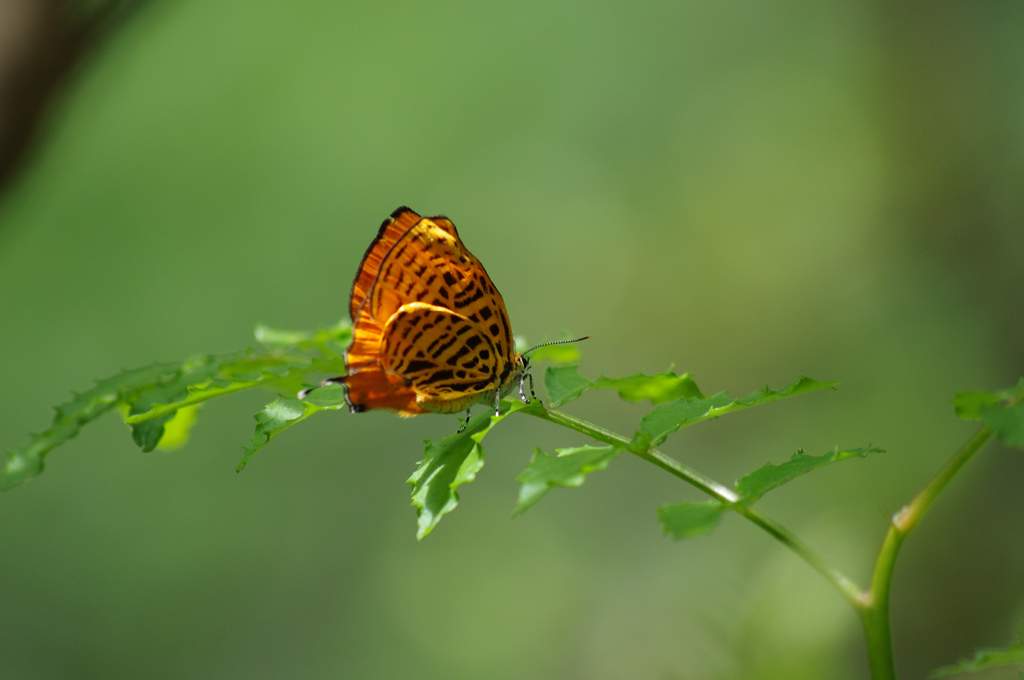
[[[840,571],[837,571],[825,564],[824,560],[817,553],[811,550],[810,547],[798,539],[787,528],[778,522],[765,517],[750,506],[741,503],[736,492],[728,486],[720,484],[714,479],[711,479],[692,468],[683,465],[657,449],[640,445],[621,434],[606,430],[599,425],[577,418],[575,416],[569,416],[568,414],[560,411],[545,409],[540,405],[540,402],[535,401],[529,407],[524,409],[523,412],[534,416],[535,418],[540,418],[550,423],[567,427],[582,434],[586,434],[587,436],[598,441],[603,441],[604,443],[627,451],[652,465],[656,465],[669,474],[682,479],[686,483],[695,486],[708,496],[711,496],[721,502],[733,512],[745,517],[757,526],[767,532],[769,536],[792,550],[798,557],[807,562],[811,568],[824,577],[828,583],[830,583],[840,592],[840,594],[846,598],[848,602],[855,607],[860,608],[860,602],[863,595],[856,584]]]

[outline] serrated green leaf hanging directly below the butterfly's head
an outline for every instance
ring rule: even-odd
[[[518,400],[506,401],[509,408],[500,416],[480,415],[457,434],[437,441],[423,442],[423,460],[407,483],[413,487],[416,508],[416,538],[426,538],[441,517],[459,505],[458,488],[476,478],[483,468],[483,447],[480,443],[498,423],[526,408]]]

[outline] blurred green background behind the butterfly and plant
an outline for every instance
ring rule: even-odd
[[[1024,374],[1018,3],[154,1],[84,62],[0,202],[0,443],[121,368],[344,313],[380,220],[450,215],[516,333],[584,371],[842,390],[688,430],[731,480],[798,448],[889,453],[764,502],[866,582],[888,517]],[[513,519],[513,419],[417,544],[404,479],[453,417],[330,414],[243,475],[260,395],[139,454],[108,417],[0,497],[4,678],[862,678],[841,598],[634,459]],[[630,431],[640,408],[573,410]],[[1024,457],[993,444],[906,546],[922,677],[1024,621]],[[992,675],[991,677],[1000,677]],[[1011,676],[1006,676],[1011,677]]]

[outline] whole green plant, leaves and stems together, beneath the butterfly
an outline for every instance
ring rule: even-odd
[[[307,391],[303,399],[295,395],[300,388],[315,383],[325,374],[337,375],[344,371],[342,354],[350,338],[347,324],[310,333],[261,326],[256,329],[258,346],[255,348],[231,354],[202,355],[179,364],[158,364],[99,381],[57,407],[48,429],[33,435],[28,443],[8,451],[0,459],[0,490],[11,488],[38,475],[50,451],[76,436],[83,425],[108,411],[120,410],[131,429],[132,439],[142,451],[169,450],[187,440],[199,407],[205,401],[238,391],[266,389],[275,396],[255,415],[255,431],[238,464],[237,469],[241,471],[281,433],[322,411],[345,407],[344,389],[339,385],[322,385]],[[667,535],[688,539],[708,534],[719,524],[726,510],[734,510],[753,521],[822,573],[861,611],[867,622],[865,630],[872,650],[872,671],[878,672],[878,677],[892,677],[891,660],[885,656],[885,650],[891,645],[882,639],[888,635],[888,629],[873,623],[874,618],[884,619],[878,611],[885,617],[888,611],[876,611],[871,607],[882,605],[869,604],[880,602],[888,606],[888,591],[880,594],[873,584],[871,591],[861,591],[846,577],[824,566],[820,558],[784,527],[753,508],[765,494],[798,477],[833,463],[881,453],[881,449],[837,447],[819,456],[798,451],[787,461],[764,465],[740,477],[732,488],[703,477],[654,449],[682,428],[791,396],[834,389],[836,383],[800,378],[781,389],[765,387],[738,398],[726,392],[705,396],[688,374],[677,375],[671,371],[592,380],[580,373],[580,352],[574,346],[539,349],[535,358],[556,364],[549,367],[544,376],[549,400],[556,406],[572,401],[590,390],[606,389],[614,391],[624,401],[646,401],[653,408],[641,419],[633,437],[627,438],[568,414],[549,410],[540,401],[522,403],[506,399],[503,401],[505,410],[500,415],[477,416],[464,431],[424,442],[423,459],[408,479],[417,513],[418,539],[427,537],[444,515],[458,507],[460,488],[476,479],[483,469],[482,442],[487,434],[509,416],[524,413],[585,434],[600,445],[556,449],[553,454],[536,450],[528,465],[517,476],[520,488],[516,513],[538,503],[551,488],[583,485],[589,474],[607,468],[620,454],[635,455],[711,497],[700,502],[658,508],[657,517]],[[955,407],[961,418],[980,420],[986,427],[957,452],[952,463],[908,506],[914,508],[915,518],[927,511],[935,495],[959,466],[993,434],[1007,444],[1024,447],[1024,379],[1007,390],[958,394]],[[904,522],[902,530],[906,533],[911,527],[912,523]],[[899,527],[895,524],[890,527],[892,536],[896,530]],[[900,541],[887,539],[880,553],[876,582],[883,584],[881,588],[888,588],[885,568],[891,567],[899,545]],[[881,580],[878,578],[880,572],[883,573]],[[882,634],[878,633],[880,630]],[[876,641],[874,637],[880,635],[882,637]],[[935,677],[1010,665],[1024,665],[1024,647],[983,649],[971,660],[939,669]]]

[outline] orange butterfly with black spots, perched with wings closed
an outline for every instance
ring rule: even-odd
[[[498,415],[516,385],[528,401],[526,380],[534,398],[528,354],[554,344],[517,352],[505,301],[455,223],[407,207],[364,254],[348,308],[346,375],[324,384],[344,385],[353,413],[457,413],[483,401]]]

